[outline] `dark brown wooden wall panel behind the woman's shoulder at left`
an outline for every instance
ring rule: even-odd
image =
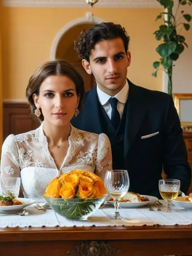
[[[4,140],[9,134],[25,133],[38,126],[27,103],[4,102]]]

